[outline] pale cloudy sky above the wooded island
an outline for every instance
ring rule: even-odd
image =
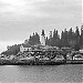
[[[82,25],[82,0],[0,0],[0,52],[33,32]]]

